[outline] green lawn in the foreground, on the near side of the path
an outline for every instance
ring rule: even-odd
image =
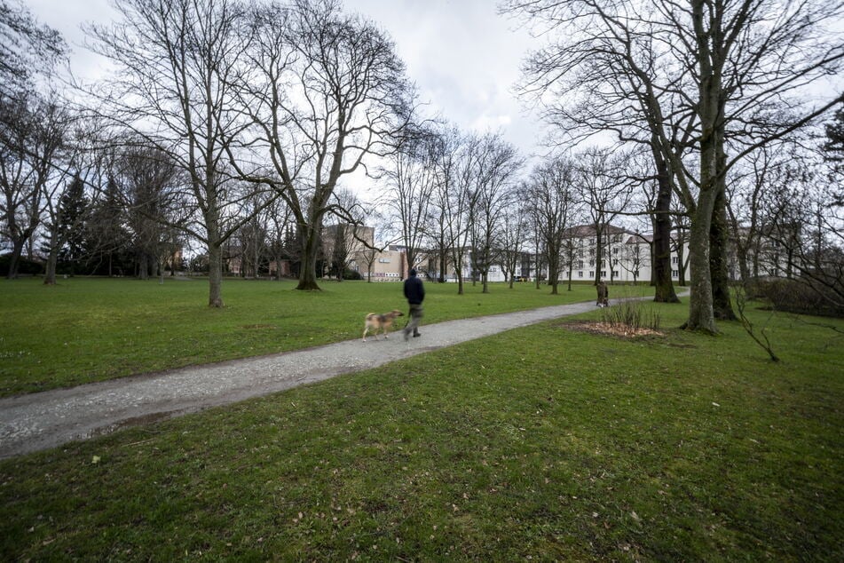
[[[0,559],[844,560],[844,322],[643,306],[0,462]]]

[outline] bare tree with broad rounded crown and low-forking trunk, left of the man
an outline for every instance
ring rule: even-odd
[[[252,29],[238,77],[248,129],[233,163],[287,203],[302,243],[297,289],[319,289],[319,234],[338,182],[406,122],[404,65],[380,28],[335,0],[259,6]],[[236,163],[244,155],[250,167]]]

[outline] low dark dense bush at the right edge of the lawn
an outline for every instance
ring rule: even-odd
[[[832,289],[809,281],[772,278],[756,281],[753,296],[768,301],[777,311],[844,317],[844,306]]]

